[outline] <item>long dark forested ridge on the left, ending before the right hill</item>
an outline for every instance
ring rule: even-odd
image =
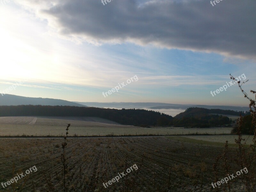
[[[0,106],[0,116],[92,116],[126,125],[167,125],[172,116],[145,109],[105,109],[75,106]]]

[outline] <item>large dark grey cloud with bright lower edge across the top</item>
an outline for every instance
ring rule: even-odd
[[[154,45],[256,60],[256,1],[19,0],[78,43]]]

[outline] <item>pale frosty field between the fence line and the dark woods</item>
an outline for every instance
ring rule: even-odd
[[[114,133],[114,135],[175,135],[175,134],[229,134],[232,128],[145,128],[130,125],[120,125],[106,119],[98,117],[0,117],[0,136],[34,135],[60,136],[64,134],[63,127],[71,124],[70,135],[104,136]],[[64,130],[65,131],[65,130]]]

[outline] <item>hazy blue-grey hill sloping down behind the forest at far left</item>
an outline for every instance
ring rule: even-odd
[[[77,106],[87,107],[82,104],[60,100],[60,99],[49,99],[49,98],[33,98],[33,97],[22,97],[10,94],[0,94],[0,105],[62,105],[62,106]]]

